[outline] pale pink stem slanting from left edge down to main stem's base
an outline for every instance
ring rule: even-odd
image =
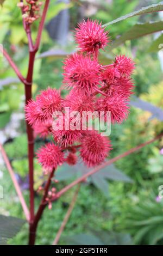
[[[24,211],[24,215],[26,216],[26,220],[29,222],[30,215],[29,215],[29,210],[28,210],[27,204],[26,204],[26,202],[24,200],[21,188],[18,185],[18,182],[17,182],[17,180],[15,178],[14,170],[12,169],[10,161],[9,161],[9,159],[7,157],[7,154],[5,153],[5,150],[4,150],[4,148],[3,148],[3,146],[1,144],[0,144],[0,150],[1,150],[1,153],[2,153],[2,156],[3,156],[3,160],[4,160],[4,162],[5,162],[6,166],[7,166],[9,174],[11,176],[11,179],[12,179],[12,182],[14,184],[15,190],[17,192],[17,196],[18,196],[18,198],[20,200],[20,203],[22,205],[22,209]]]

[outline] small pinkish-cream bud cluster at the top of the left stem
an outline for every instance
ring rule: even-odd
[[[18,3],[17,6],[22,9],[24,20],[32,24],[35,20],[40,18],[40,7],[43,2],[39,0],[26,0],[26,4],[23,2]]]

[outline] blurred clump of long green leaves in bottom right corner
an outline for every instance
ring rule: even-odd
[[[134,236],[134,243],[156,245],[162,243],[163,201],[158,194],[147,190],[138,194],[137,200],[126,207],[123,229]]]

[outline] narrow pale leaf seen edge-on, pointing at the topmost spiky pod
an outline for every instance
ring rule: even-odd
[[[140,10],[133,11],[133,13],[129,13],[127,15],[124,15],[124,16],[116,19],[116,20],[110,21],[110,22],[104,24],[103,27],[109,26],[109,25],[114,24],[114,23],[119,22],[119,21],[126,20],[130,17],[134,17],[134,16],[142,15],[142,14],[147,14],[147,13],[153,13],[155,11],[162,11],[162,10],[163,10],[163,2],[160,2],[158,4],[152,4],[152,5],[149,5],[147,7],[143,7]]]

